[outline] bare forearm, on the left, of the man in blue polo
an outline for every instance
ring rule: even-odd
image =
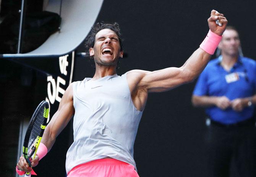
[[[192,96],[192,104],[195,107],[211,107],[211,106],[216,106],[217,103],[217,98],[214,96]]]

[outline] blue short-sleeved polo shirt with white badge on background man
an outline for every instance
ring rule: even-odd
[[[198,78],[193,95],[226,96],[229,100],[253,96],[256,91],[256,61],[240,56],[228,72],[220,65],[221,60],[222,56],[219,56],[207,64]],[[206,113],[214,121],[234,124],[252,117],[254,106],[246,107],[241,112],[212,106],[206,109]]]

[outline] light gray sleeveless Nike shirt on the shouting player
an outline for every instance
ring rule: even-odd
[[[66,172],[107,156],[132,164],[142,111],[131,99],[126,73],[73,82],[74,142],[66,154]]]

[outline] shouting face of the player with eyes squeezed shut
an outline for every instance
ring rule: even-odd
[[[94,47],[89,49],[96,64],[115,66],[119,57],[123,57],[117,34],[111,29],[102,29],[95,36]]]

